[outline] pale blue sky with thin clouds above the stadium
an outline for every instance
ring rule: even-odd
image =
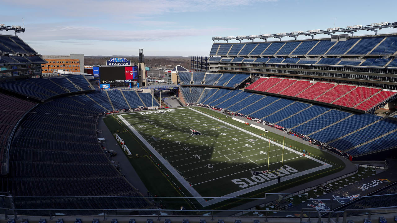
[[[19,37],[42,55],[137,55],[143,48],[145,56],[208,56],[212,37],[397,22],[397,1],[391,0],[0,0],[0,5],[0,23],[25,27]]]

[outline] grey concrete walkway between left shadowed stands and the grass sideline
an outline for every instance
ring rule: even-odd
[[[98,138],[105,138],[106,143],[103,145],[108,150],[114,150],[117,152],[117,155],[109,158],[110,160],[114,160],[120,163],[121,174],[124,174],[125,179],[133,185],[135,188],[139,190],[143,194],[143,196],[147,196],[146,192],[148,191],[146,186],[143,184],[141,179],[139,178],[137,172],[134,167],[129,162],[127,156],[125,156],[124,151],[119,146],[118,142],[109,131],[108,127],[105,125],[103,121],[103,117],[99,118],[98,129],[102,130],[102,133],[98,134]]]

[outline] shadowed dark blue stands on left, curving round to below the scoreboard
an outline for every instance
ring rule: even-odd
[[[96,91],[84,75],[42,78],[46,62],[16,36],[0,36],[0,55],[1,207],[152,208],[108,159],[96,128],[106,113],[160,106],[152,94]]]

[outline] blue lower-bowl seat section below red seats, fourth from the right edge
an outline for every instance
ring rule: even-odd
[[[292,130],[298,133],[302,133],[304,135],[308,135],[328,125],[331,125],[332,123],[335,123],[349,115],[351,115],[351,113],[342,112],[339,110],[331,110],[323,115],[320,115],[319,117],[316,117],[311,121],[304,123],[303,125],[293,128]]]

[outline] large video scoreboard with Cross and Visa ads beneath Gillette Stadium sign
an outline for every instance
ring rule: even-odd
[[[101,84],[123,85],[138,81],[138,66],[93,67],[94,77],[98,77]]]

